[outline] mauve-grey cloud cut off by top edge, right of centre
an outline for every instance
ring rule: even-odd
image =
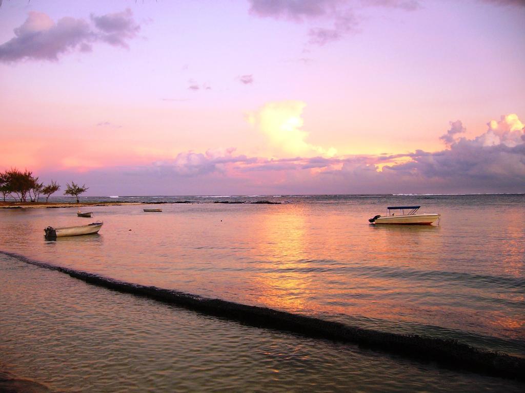
[[[309,43],[325,45],[360,31],[358,12],[367,7],[398,8],[405,11],[421,7],[417,0],[248,0],[249,13],[262,18],[316,23],[308,30]]]

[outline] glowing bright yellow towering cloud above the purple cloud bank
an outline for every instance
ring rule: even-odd
[[[308,133],[302,129],[305,106],[302,101],[270,102],[248,113],[247,120],[269,139],[270,147],[280,155],[335,155],[334,148],[324,149],[306,141]]]

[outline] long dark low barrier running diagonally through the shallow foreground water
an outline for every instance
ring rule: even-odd
[[[203,298],[176,290],[115,280],[85,271],[56,266],[2,250],[0,250],[0,254],[16,258],[31,265],[63,272],[92,285],[148,297],[203,314],[238,321],[258,328],[274,329],[296,333],[306,337],[358,344],[362,347],[403,355],[418,359],[419,361],[436,362],[447,368],[525,380],[524,358],[480,350],[467,344],[459,343],[456,340],[385,333],[357,328],[340,322],[322,320],[266,307],[240,304],[220,299]]]

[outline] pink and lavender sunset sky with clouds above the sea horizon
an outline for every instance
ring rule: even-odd
[[[523,0],[3,0],[0,170],[89,195],[525,192],[523,20]]]

